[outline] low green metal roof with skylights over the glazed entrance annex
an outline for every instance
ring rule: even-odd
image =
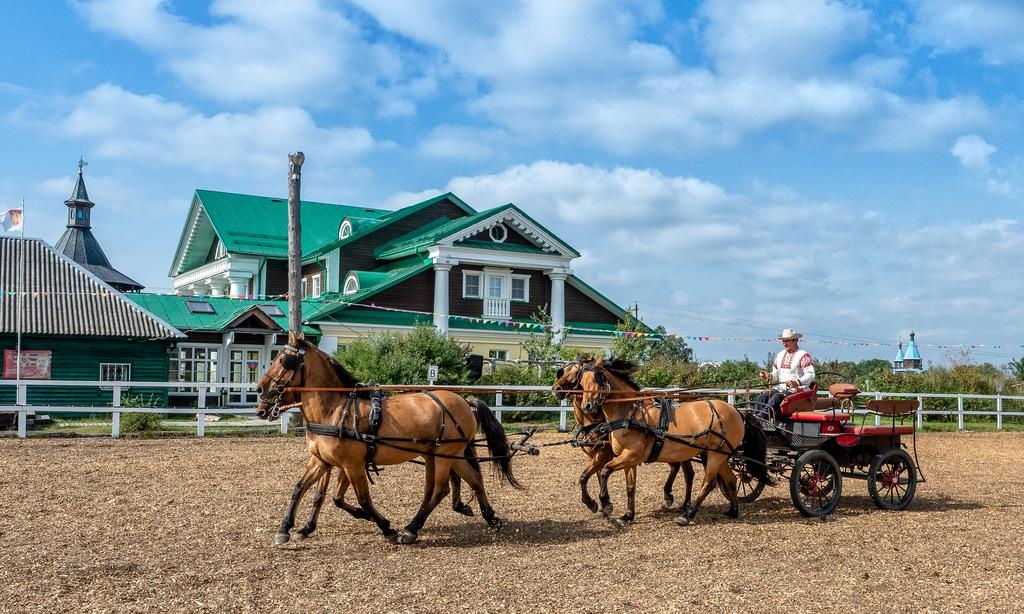
[[[257,301],[254,299],[229,299],[226,297],[186,297],[178,295],[160,295],[146,293],[125,293],[125,298],[139,307],[157,315],[175,328],[184,332],[220,333],[237,317],[260,305],[276,305],[284,315],[268,315],[283,331],[288,331],[288,301]],[[188,310],[186,301],[202,301],[209,303],[215,313],[193,313]],[[323,308],[323,304],[312,301],[302,302],[302,313],[308,321],[308,315],[314,315]],[[303,325],[306,335],[319,335],[314,326]]]

